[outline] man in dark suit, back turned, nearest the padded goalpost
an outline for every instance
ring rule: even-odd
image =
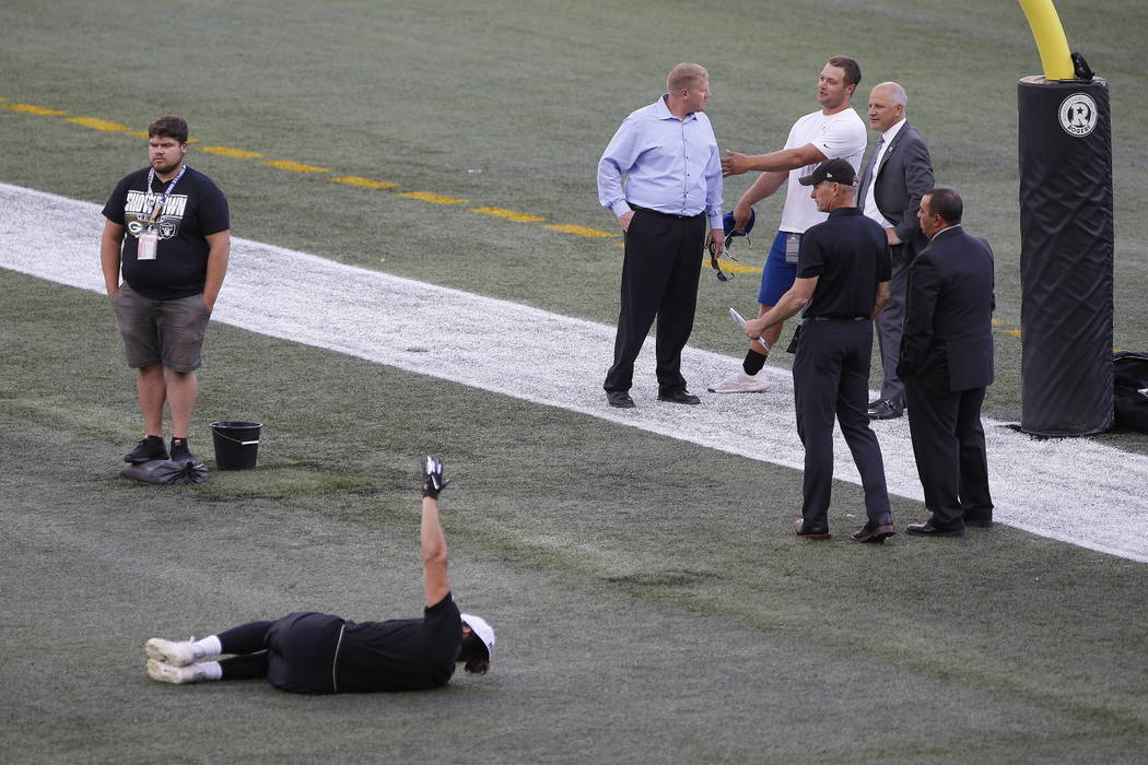
[[[993,251],[964,233],[961,197],[934,188],[917,217],[929,237],[909,266],[898,375],[928,521],[912,534],[963,537],[990,526],[993,501],[980,406],[993,381]]]

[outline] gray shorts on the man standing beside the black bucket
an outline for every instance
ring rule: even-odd
[[[124,338],[127,366],[142,369],[162,364],[173,372],[194,372],[202,366],[203,334],[211,318],[203,295],[153,300],[124,282],[111,296],[111,307]]]

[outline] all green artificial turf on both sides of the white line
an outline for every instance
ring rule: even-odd
[[[1111,84],[1115,345],[1146,350],[1148,17],[1134,0],[1056,5]],[[142,130],[176,111],[200,147],[331,169],[193,149],[236,235],[603,322],[616,240],[545,226],[613,231],[594,171],[625,115],[695,60],[722,147],[776,149],[816,107],[824,60],[855,55],[855,103],[906,86],[938,181],[996,251],[986,412],[1019,417],[1016,80],[1039,58],[1015,3],[14,0],[0,29],[0,107],[67,112],[0,108],[0,182],[102,204],[144,141],[67,118]],[[400,186],[329,180],[348,174]],[[728,181],[728,204],[750,180]],[[753,257],[779,206],[759,205]],[[757,287],[704,274],[691,342],[740,354],[726,309],[751,310]],[[1093,763],[1148,744],[1141,563],[1007,528],[802,544],[786,536],[796,471],[222,325],[192,446],[214,467],[208,422],[264,421],[258,469],[141,486],[116,475],[139,424],[103,298],[6,271],[0,351],[5,762]],[[417,615],[427,452],[456,481],[456,594],[498,629],[489,676],[335,698],[146,678],[154,634],[296,608]],[[860,507],[835,485],[835,529]]]

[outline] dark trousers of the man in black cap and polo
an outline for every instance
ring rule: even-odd
[[[793,359],[797,432],[805,446],[801,516],[806,530],[828,530],[833,489],[833,420],[853,454],[864,489],[866,515],[891,523],[885,462],[869,428],[872,322],[801,323]]]

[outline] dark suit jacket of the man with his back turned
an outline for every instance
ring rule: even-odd
[[[951,226],[909,266],[898,375],[941,373],[951,391],[993,381],[993,251]]]

